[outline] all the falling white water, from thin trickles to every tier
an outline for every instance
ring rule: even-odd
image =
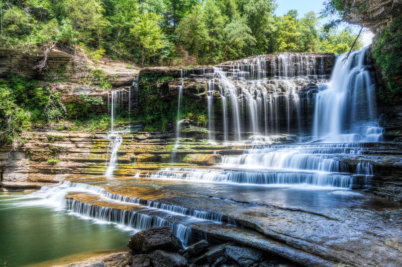
[[[283,53],[269,60],[258,56],[229,66],[215,67],[214,74],[208,73],[208,77],[212,78],[208,80],[207,90],[208,138],[211,143],[216,142],[216,132],[220,131],[219,124],[215,121],[221,119],[217,118],[220,113],[215,108],[221,106],[224,142],[244,141],[243,133],[254,135],[255,140],[260,135],[265,135],[258,139],[264,143],[274,140],[274,137],[267,138],[268,135],[306,134],[300,129],[302,121],[306,114],[313,111],[313,135],[315,140],[321,142],[252,146],[245,149],[242,155],[223,155],[222,162],[209,169],[165,167],[146,174],[137,173],[135,177],[208,181],[209,186],[214,183],[228,183],[229,186],[236,184],[241,189],[242,186],[256,185],[259,189],[263,186],[306,188],[306,185],[312,186],[308,187],[309,190],[353,188],[354,176],[370,176],[373,168],[369,162],[360,161],[357,166],[353,166],[355,171],[351,173],[348,165],[342,161],[342,156],[363,154],[367,149],[364,142],[379,140],[382,132],[374,123],[376,112],[373,79],[365,68],[365,53],[366,49],[353,52],[344,62],[342,60],[346,55],[338,57],[331,81],[327,84],[324,56],[318,58],[309,54]],[[181,73],[182,84],[177,88],[174,153],[180,139],[180,104],[185,75]],[[205,75],[204,71],[202,75]],[[312,82],[316,84],[315,90],[318,93],[310,90],[310,85],[306,86]],[[300,93],[306,94],[305,100],[302,100]],[[218,94],[221,95],[221,103],[218,97],[215,98]],[[107,152],[109,160],[106,176],[114,174],[117,154],[123,142],[114,125],[115,116],[123,109],[123,95],[123,92],[111,92],[108,99],[111,105],[111,142]],[[316,108],[312,110],[314,105]],[[308,106],[309,110],[303,110],[302,106]],[[353,118],[346,114],[351,114]],[[191,183],[188,184],[191,186]],[[66,198],[69,193],[99,197],[102,201],[113,203],[113,208],[112,205],[102,207],[84,203],[79,197]],[[62,182],[53,187],[44,186],[36,194],[57,208],[136,230],[168,225],[186,244],[191,242],[193,236],[190,226],[193,222],[236,225],[235,220],[217,213],[125,197],[93,185]]]

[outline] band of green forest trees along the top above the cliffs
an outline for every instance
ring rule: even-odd
[[[327,0],[322,15],[340,15],[338,2]],[[349,28],[322,26],[314,12],[275,16],[276,7],[275,0],[1,0],[0,41],[163,65],[180,61],[183,49],[199,64],[217,64],[277,52],[344,53],[355,39]]]

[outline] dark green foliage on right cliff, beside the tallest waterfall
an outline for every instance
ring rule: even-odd
[[[400,103],[402,100],[402,17],[375,36],[374,60],[382,69],[387,89],[380,95],[385,103]]]

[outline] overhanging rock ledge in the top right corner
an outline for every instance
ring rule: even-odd
[[[344,20],[376,33],[402,12],[402,0],[345,0]]]

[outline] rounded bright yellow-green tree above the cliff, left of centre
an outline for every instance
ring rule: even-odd
[[[167,46],[162,30],[157,25],[158,17],[154,14],[142,14],[131,29],[131,33],[138,40],[141,48],[141,65],[150,57],[160,53],[160,49]]]

